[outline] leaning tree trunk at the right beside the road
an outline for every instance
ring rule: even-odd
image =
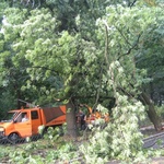
[[[147,114],[148,114],[150,120],[152,121],[152,124],[154,125],[155,130],[156,131],[161,130],[162,129],[161,119],[159,118],[159,116],[155,112],[152,99],[148,96],[148,94],[145,92],[141,93],[141,102],[143,103],[143,105],[149,106],[149,109],[147,109]]]

